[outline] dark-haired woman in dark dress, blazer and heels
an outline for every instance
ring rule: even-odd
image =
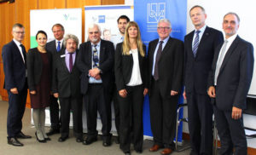
[[[27,83],[31,99],[32,119],[39,142],[49,141],[44,132],[45,107],[49,106],[52,56],[46,51],[47,34],[38,31],[38,47],[29,49],[26,56]]]

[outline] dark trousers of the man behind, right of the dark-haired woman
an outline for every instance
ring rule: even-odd
[[[50,127],[52,129],[60,129],[60,118],[59,118],[59,104],[58,99],[53,95],[49,98],[49,117],[50,117]]]

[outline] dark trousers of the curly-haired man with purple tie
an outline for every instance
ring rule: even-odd
[[[60,98],[61,103],[61,137],[68,137],[70,112],[73,113],[73,134],[77,138],[83,137],[82,109],[83,100],[81,97]]]

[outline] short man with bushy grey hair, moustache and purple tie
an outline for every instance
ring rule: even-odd
[[[77,67],[79,38],[67,34],[63,44],[66,49],[55,55],[52,92],[61,104],[61,137],[66,141],[69,135],[70,110],[73,112],[73,132],[77,142],[83,141],[82,109],[80,93],[80,72]]]

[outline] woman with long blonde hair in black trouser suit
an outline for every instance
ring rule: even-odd
[[[131,141],[136,152],[143,152],[143,100],[148,93],[147,71],[146,46],[137,23],[131,21],[125,28],[124,42],[117,44],[114,62],[119,91],[120,148],[125,154],[131,154]]]

